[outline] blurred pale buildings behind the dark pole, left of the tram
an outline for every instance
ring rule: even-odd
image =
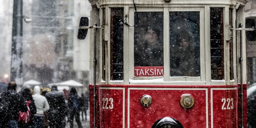
[[[78,40],[81,16],[90,16],[86,0],[23,0],[23,81],[43,85],[70,79],[88,85],[89,39]],[[10,76],[13,0],[0,2],[0,78]]]

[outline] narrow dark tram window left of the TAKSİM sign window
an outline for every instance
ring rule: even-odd
[[[110,26],[110,77],[111,80],[123,80],[123,8],[111,8]]]

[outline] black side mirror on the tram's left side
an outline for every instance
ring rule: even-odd
[[[81,17],[80,23],[79,23],[78,34],[77,34],[78,39],[80,39],[80,40],[85,39],[88,29],[80,29],[80,27],[88,26],[88,25],[89,25],[88,17]]]

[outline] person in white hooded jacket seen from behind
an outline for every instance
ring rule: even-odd
[[[36,114],[34,115],[34,128],[43,128],[44,127],[44,112],[50,109],[49,103],[45,96],[40,94],[40,87],[34,87],[34,95],[32,95],[35,100]]]

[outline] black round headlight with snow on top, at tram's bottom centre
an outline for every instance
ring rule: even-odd
[[[183,126],[178,120],[167,116],[157,120],[152,128],[183,128]]]

